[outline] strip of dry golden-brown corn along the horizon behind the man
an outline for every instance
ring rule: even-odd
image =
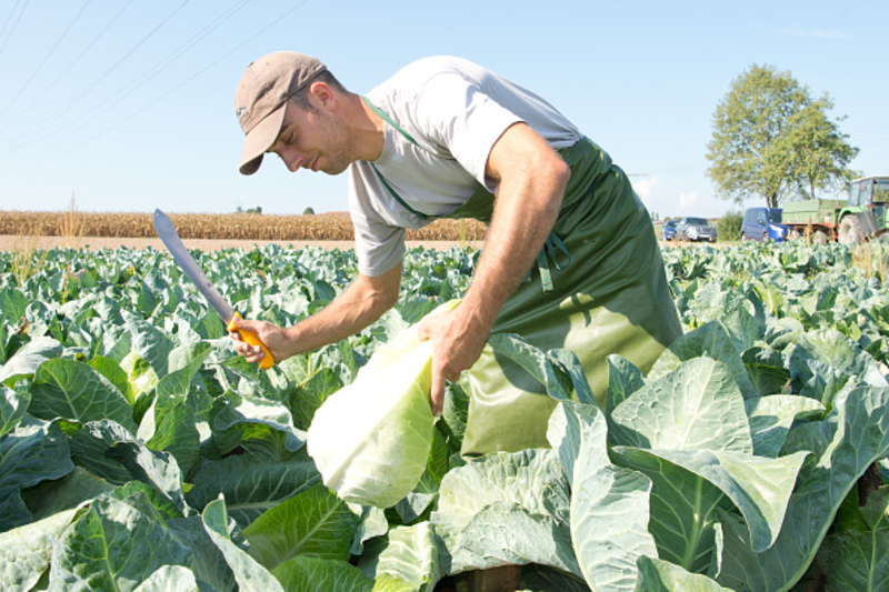
[[[269,241],[351,241],[348,213],[270,215],[254,213],[173,213],[170,219],[183,239]],[[0,234],[23,237],[154,238],[150,213],[10,212],[0,211]],[[408,240],[479,241],[485,224],[476,220],[437,220],[408,230]]]

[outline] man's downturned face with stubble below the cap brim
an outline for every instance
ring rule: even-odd
[[[354,160],[347,131],[336,113],[321,108],[301,109],[289,102],[281,132],[268,150],[291,172],[299,169],[339,174]]]

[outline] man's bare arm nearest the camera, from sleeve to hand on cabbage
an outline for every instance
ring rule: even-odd
[[[500,309],[543,248],[571,171],[542,137],[516,123],[491,148],[486,174],[499,183],[472,282],[455,311],[420,327],[420,338],[432,340],[436,414],[444,403],[444,381],[457,380],[479,359]]]

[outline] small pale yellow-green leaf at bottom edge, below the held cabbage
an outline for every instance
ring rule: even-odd
[[[389,574],[411,584],[411,590],[431,592],[444,575],[430,522],[396,526],[387,536],[371,539],[364,549],[358,566],[372,580]]]

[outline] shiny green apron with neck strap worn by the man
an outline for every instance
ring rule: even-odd
[[[543,351],[572,350],[605,407],[607,357],[618,353],[648,373],[682,327],[651,219],[627,175],[587,138],[559,155],[571,169],[559,217],[530,281],[507,300],[491,333],[519,334]],[[380,179],[402,205],[431,219]],[[447,218],[489,223],[493,201],[480,185]],[[549,446],[547,423],[557,402],[526,370],[486,347],[463,378],[470,395],[465,456]]]

